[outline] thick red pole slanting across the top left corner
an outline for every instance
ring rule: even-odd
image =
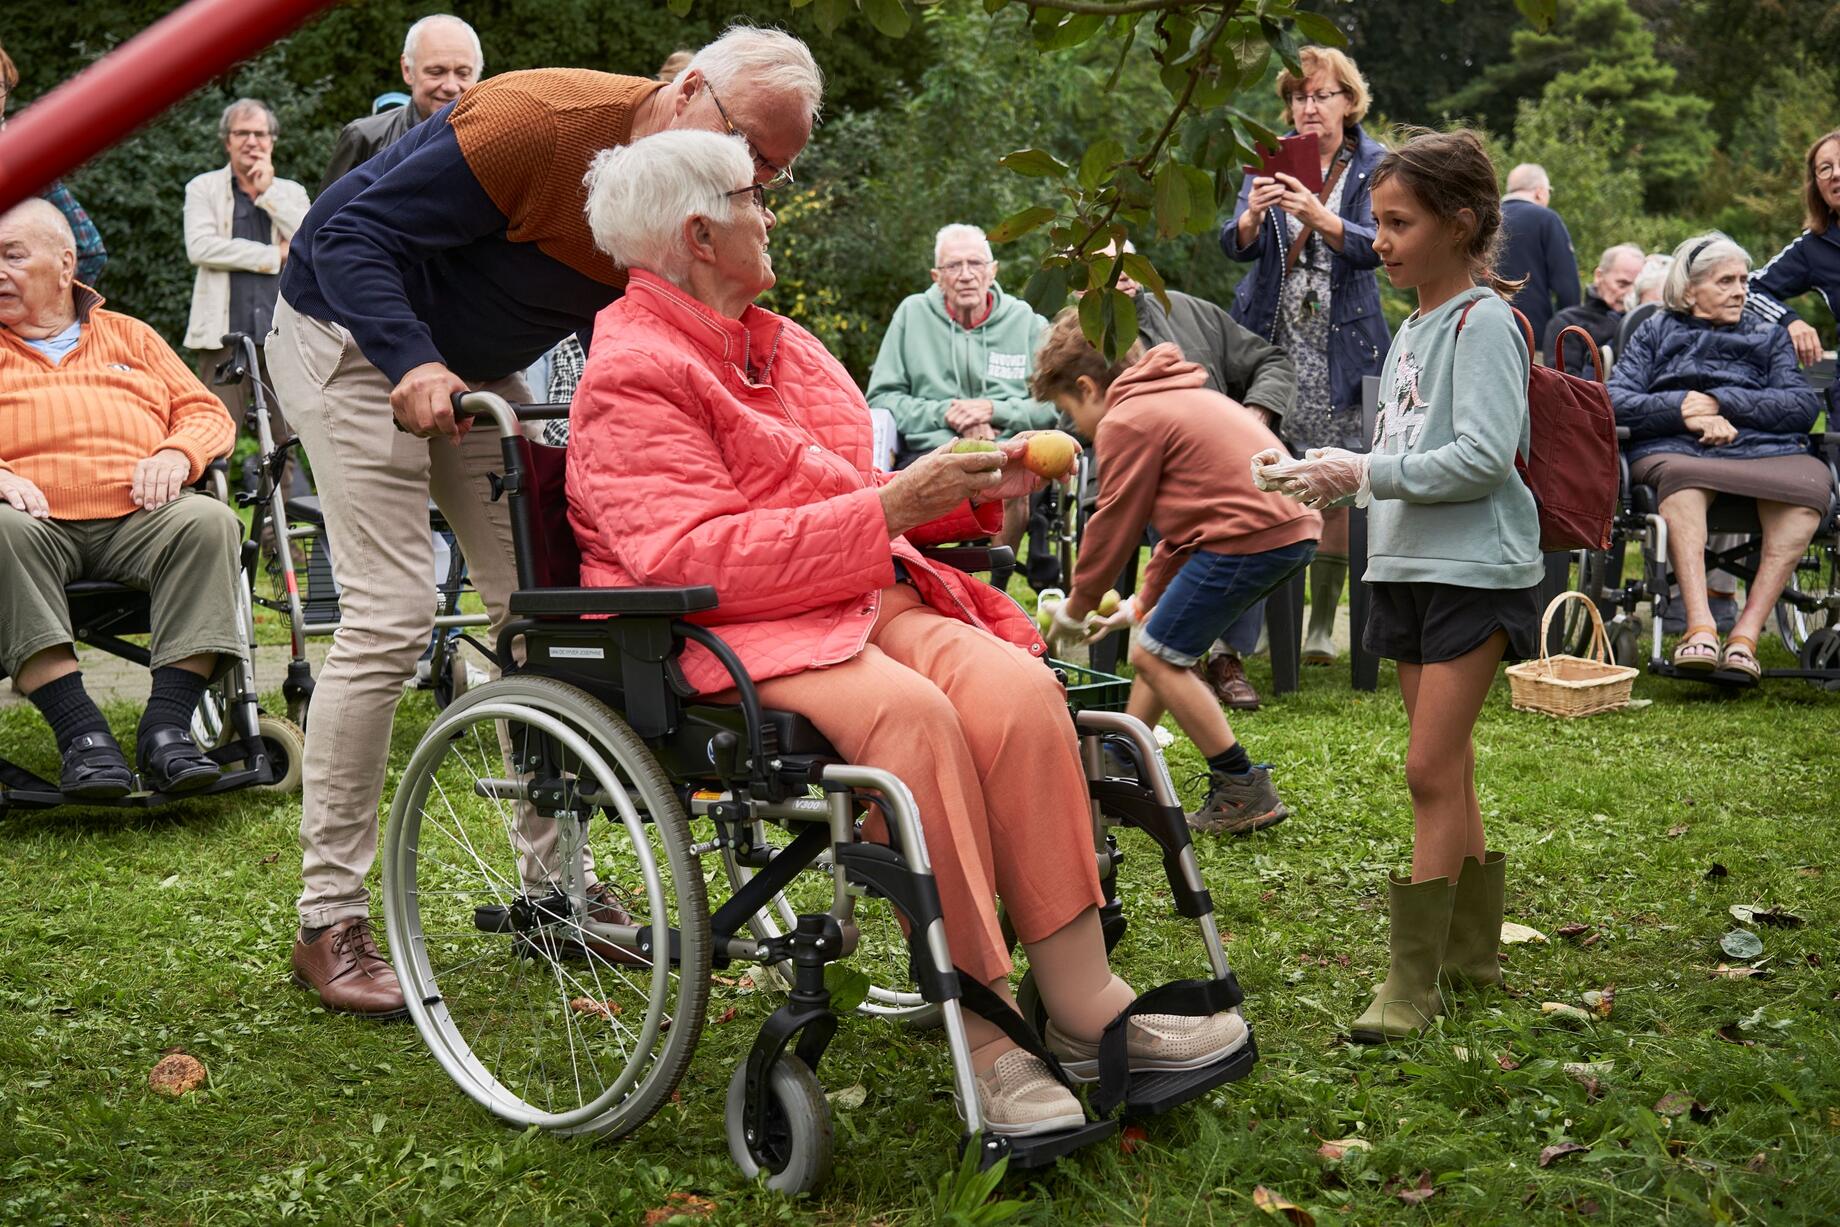
[[[333,0],[191,0],[0,131],[0,210],[120,142]]]

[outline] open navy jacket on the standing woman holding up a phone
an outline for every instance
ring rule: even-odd
[[[1380,361],[1393,344],[1380,315],[1380,281],[1374,278],[1380,258],[1374,256],[1374,210],[1367,184],[1386,149],[1358,123],[1352,134],[1354,158],[1341,189],[1341,250],[1332,254],[1328,269],[1328,394],[1334,408],[1360,407],[1362,375],[1378,375]],[[1240,247],[1238,217],[1251,193],[1253,177],[1248,175],[1233,217],[1220,230],[1220,250],[1242,263],[1253,261],[1233,294],[1233,318],[1270,340],[1277,327],[1284,258],[1290,254],[1288,226],[1281,210],[1268,210],[1251,247]]]

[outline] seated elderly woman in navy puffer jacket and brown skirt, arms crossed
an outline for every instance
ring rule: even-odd
[[[1809,451],[1820,396],[1796,370],[1788,335],[1744,318],[1750,256],[1722,234],[1687,239],[1645,322],[1610,375],[1628,427],[1630,480],[1656,486],[1687,629],[1682,670],[1759,677],[1757,636],[1827,510],[1831,476]],[[1719,648],[1706,596],[1706,511],[1719,495],[1757,500],[1763,557],[1744,611]]]

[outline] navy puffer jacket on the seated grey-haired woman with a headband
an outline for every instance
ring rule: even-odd
[[[1724,447],[1706,447],[1680,419],[1687,392],[1719,401],[1737,427]],[[1739,320],[1711,324],[1662,311],[1636,329],[1610,373],[1616,423],[1628,427],[1628,458],[1654,453],[1755,460],[1809,451],[1809,427],[1822,397],[1796,370],[1796,350],[1781,327]]]

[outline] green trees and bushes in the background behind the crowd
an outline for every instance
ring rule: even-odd
[[[81,70],[177,0],[6,6],[0,44],[18,61],[17,101]],[[103,291],[175,340],[191,270],[180,239],[184,184],[221,162],[215,118],[237,96],[267,99],[283,136],[278,171],[316,188],[339,127],[399,88],[396,53],[427,0],[342,4],[243,64],[68,182],[110,248]],[[453,4],[486,46],[486,68],[580,64],[650,74],[729,20],[782,24],[811,42],[830,79],[826,121],[773,201],[780,285],[769,305],[813,327],[857,375],[874,361],[894,305],[926,287],[931,235],[948,221],[994,226],[1043,202],[1043,180],[995,166],[1021,147],[1076,164],[1086,149],[1144,143],[1168,109],[1148,46],[1100,35],[1038,53],[1021,6],[995,17],[972,0],[918,9],[905,39],[852,18],[822,33],[813,7],[784,0],[696,0],[688,17],[657,4],[484,0]],[[1755,259],[1800,232],[1801,153],[1840,127],[1840,6],[1829,0],[1560,0],[1535,31],[1512,0],[1312,0],[1349,37],[1369,75],[1369,129],[1481,125],[1501,171],[1542,162],[1555,180],[1588,274],[1601,248],[1671,248],[1717,226]],[[1148,44],[1148,39],[1143,39]],[[1233,107],[1279,123],[1275,68]],[[1183,147],[1207,164],[1218,114],[1189,121]],[[1233,167],[1222,177],[1231,188]],[[1231,201],[1222,204],[1222,213]],[[1167,281],[1227,302],[1242,269],[1207,234],[1139,247]],[[1001,280],[1019,291],[1045,248],[1038,232],[999,247]],[[1386,289],[1393,318],[1409,302]],[[1823,320],[1816,305],[1812,318]]]

